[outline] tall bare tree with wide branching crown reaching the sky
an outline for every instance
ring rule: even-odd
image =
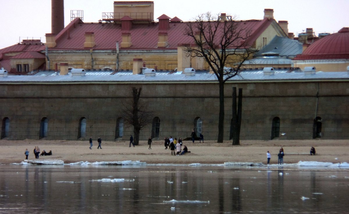
[[[247,25],[249,26],[249,25]],[[213,16],[210,12],[188,22],[184,32],[193,39],[185,47],[188,57],[203,57],[219,82],[218,143],[224,137],[224,83],[236,76],[243,63],[258,51],[251,29],[231,16]]]

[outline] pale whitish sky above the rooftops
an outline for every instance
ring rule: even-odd
[[[113,12],[113,2],[65,0],[65,26],[70,22],[70,10],[83,10],[84,22],[97,22],[103,12]],[[287,20],[289,32],[295,35],[307,27],[312,27],[316,34],[349,27],[349,0],[154,0],[154,18],[158,21],[157,17],[166,14],[189,21],[210,11],[237,15],[239,20],[262,19],[265,8],[274,9],[276,21]],[[51,33],[51,0],[0,0],[0,9],[0,49],[16,44],[20,37],[38,39]]]

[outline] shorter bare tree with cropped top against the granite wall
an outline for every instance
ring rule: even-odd
[[[142,128],[151,123],[152,111],[148,110],[148,104],[140,100],[142,88],[132,87],[132,101],[124,104],[125,124],[133,126],[134,144],[139,143],[139,133]]]

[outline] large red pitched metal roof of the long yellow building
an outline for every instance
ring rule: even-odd
[[[160,18],[160,17],[159,17]],[[238,21],[241,28],[251,32],[251,37],[247,41],[250,45],[259,37],[259,35],[272,23],[274,19],[268,20],[247,20]],[[121,33],[131,33],[132,46],[123,48],[128,50],[142,49],[177,49],[179,43],[192,43],[192,38],[184,35],[184,29],[187,22],[169,23],[170,28],[166,31],[159,31],[158,22],[147,24],[132,24],[132,29],[122,31],[121,24],[114,23],[83,23],[79,18],[70,22],[55,38],[57,46],[50,48],[54,50],[83,50],[84,34],[94,32],[96,45],[93,49],[108,50],[116,49],[116,42],[121,42]],[[68,33],[70,37],[68,38]],[[166,48],[157,48],[158,32],[168,33],[169,46]],[[239,41],[240,42],[240,41]],[[90,49],[90,48],[88,48]]]

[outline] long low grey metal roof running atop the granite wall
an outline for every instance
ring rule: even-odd
[[[305,74],[303,72],[287,72],[287,69],[276,69],[273,75],[263,74],[262,69],[246,70],[239,72],[239,75],[232,77],[229,81],[285,81],[285,80],[331,80],[340,79],[349,81],[348,72],[316,72],[314,74]],[[47,83],[55,82],[190,82],[190,81],[217,81],[215,74],[210,73],[195,73],[194,76],[186,76],[185,74],[169,74],[169,75],[155,75],[154,77],[147,77],[144,74],[135,75],[86,75],[73,77],[69,75],[59,76],[7,76],[0,77],[1,84],[10,82],[31,82],[31,83]]]

